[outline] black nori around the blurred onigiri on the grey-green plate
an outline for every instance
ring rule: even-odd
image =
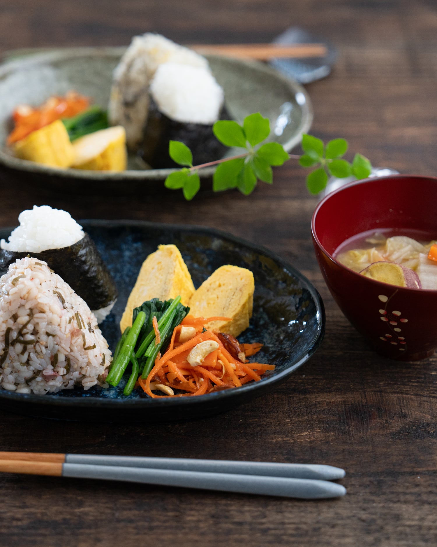
[[[220,119],[231,119],[225,106],[222,107]],[[190,148],[193,154],[193,165],[202,165],[209,161],[220,160],[227,149],[224,144],[217,140],[212,132],[212,125],[172,120],[166,114],[160,112],[156,102],[151,99],[139,154],[154,169],[180,167],[169,156],[168,145],[170,141],[183,142]]]

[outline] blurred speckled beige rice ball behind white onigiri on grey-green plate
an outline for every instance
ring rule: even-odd
[[[175,44],[161,34],[147,32],[135,36],[114,70],[108,107],[111,125],[126,130],[129,148],[135,148],[143,136],[149,112],[149,85],[162,63],[194,66],[208,70],[208,61],[195,51]]]

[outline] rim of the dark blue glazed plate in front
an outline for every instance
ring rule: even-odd
[[[134,408],[162,408],[165,406],[168,407],[177,407],[180,405],[196,405],[202,403],[214,403],[214,401],[222,399],[232,399],[238,397],[238,395],[249,395],[253,391],[257,391],[262,386],[274,386],[276,383],[280,383],[281,380],[285,379],[287,376],[291,375],[294,370],[298,369],[299,366],[303,365],[312,355],[317,351],[318,347],[322,343],[324,332],[325,332],[325,323],[326,315],[323,305],[323,300],[318,290],[314,284],[309,281],[299,270],[297,270],[291,264],[288,264],[287,261],[282,259],[274,251],[270,251],[267,247],[258,245],[257,243],[252,243],[251,241],[245,240],[242,237],[234,236],[229,234],[224,230],[219,230],[216,228],[210,228],[209,226],[202,226],[196,224],[167,224],[167,223],[158,223],[158,222],[148,222],[146,220],[106,220],[106,219],[81,219],[78,220],[81,224],[84,224],[86,229],[87,225],[94,226],[143,226],[144,228],[168,228],[170,230],[180,230],[180,231],[192,231],[197,232],[198,234],[208,234],[213,236],[219,236],[227,241],[231,241],[239,246],[244,246],[250,248],[252,251],[262,253],[267,257],[274,260],[276,263],[279,263],[282,268],[291,272],[295,276],[302,286],[305,287],[312,296],[316,306],[316,317],[317,321],[317,330],[315,331],[314,336],[308,342],[306,353],[299,359],[297,362],[290,365],[286,365],[284,370],[281,370],[280,373],[271,376],[265,376],[259,382],[249,382],[241,387],[234,389],[226,389],[225,391],[217,391],[215,393],[208,393],[205,395],[198,395],[197,397],[178,397],[170,399],[152,399],[149,397],[144,397],[140,399],[121,399],[121,398],[101,398],[101,397],[62,397],[61,392],[58,392],[53,395],[39,395],[35,393],[15,393],[7,391],[6,389],[0,389],[0,399],[12,400],[15,402],[22,401],[23,403],[31,403],[38,405],[48,405],[58,408],[93,408],[93,407],[102,407],[107,409],[134,409]],[[2,228],[2,230],[9,230],[9,228]]]

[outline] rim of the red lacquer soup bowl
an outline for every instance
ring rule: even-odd
[[[351,274],[353,274],[354,276],[356,276],[357,280],[358,280],[358,278],[363,280],[364,276],[359,274],[359,272],[356,272],[355,270],[352,270],[351,268],[345,266],[344,264],[341,264],[341,262],[339,260],[337,260],[331,253],[329,253],[327,251],[327,249],[324,248],[324,246],[322,245],[320,239],[317,236],[316,226],[315,226],[317,214],[321,210],[321,208],[324,206],[324,204],[327,203],[327,201],[329,201],[330,197],[333,197],[334,195],[339,194],[340,192],[342,192],[344,190],[347,190],[348,188],[351,188],[353,186],[358,186],[358,185],[361,185],[361,184],[366,184],[368,182],[386,181],[387,179],[400,179],[400,178],[423,179],[423,180],[427,180],[427,181],[434,181],[434,182],[437,183],[437,177],[428,176],[428,175],[415,175],[415,174],[389,174],[389,175],[386,175],[385,177],[368,177],[368,178],[364,178],[364,179],[359,179],[358,181],[349,182],[349,183],[345,184],[344,186],[342,186],[340,188],[337,188],[333,192],[330,192],[329,194],[324,196],[323,199],[319,203],[317,203],[317,207],[315,208],[314,212],[312,213],[312,217],[311,217],[311,235],[312,235],[313,241],[317,244],[317,246],[321,249],[323,254],[325,254],[326,257],[330,261],[332,261],[334,264],[339,266],[341,269],[346,270],[346,271],[350,272]],[[374,280],[371,277],[365,277],[365,279],[368,282],[373,283],[375,287],[376,286],[379,286],[379,287],[396,287],[401,293],[402,292],[410,292],[410,291],[423,292],[423,290],[426,290],[426,294],[437,295],[437,289],[416,289],[416,288],[412,288],[412,287],[398,287],[398,286],[391,285],[390,283],[385,283],[383,281]]]

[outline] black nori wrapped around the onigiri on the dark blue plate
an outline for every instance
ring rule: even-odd
[[[85,233],[81,240],[68,247],[47,249],[40,253],[0,249],[0,275],[5,274],[15,260],[28,254],[46,262],[93,312],[114,304],[118,295],[115,282],[88,234]],[[104,313],[97,313],[96,316],[98,321],[102,321]]]

